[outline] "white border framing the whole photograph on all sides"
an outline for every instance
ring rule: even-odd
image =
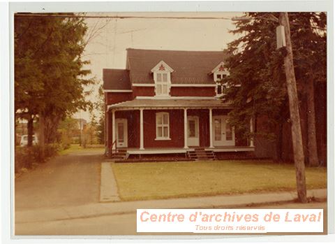
[[[206,242],[335,241],[334,236],[334,6],[332,0],[313,1],[156,1],[156,2],[11,2],[0,3],[0,156],[2,243],[153,243],[194,238]],[[327,12],[327,236],[14,236],[14,81],[13,14],[15,12]],[[10,143],[8,143],[10,142]],[[330,235],[332,234],[332,235]],[[173,239],[173,240],[172,240]],[[114,242],[113,241],[113,242]]]

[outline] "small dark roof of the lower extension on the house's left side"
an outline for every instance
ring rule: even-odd
[[[129,71],[126,69],[103,69],[103,89],[131,89]]]

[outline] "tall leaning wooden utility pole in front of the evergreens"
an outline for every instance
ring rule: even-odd
[[[293,65],[293,53],[290,34],[290,22],[288,13],[279,15],[279,23],[285,29],[286,52],[284,57],[286,85],[288,87],[288,101],[290,105],[290,119],[292,131],[292,145],[295,158],[297,194],[301,203],[307,202],[306,197],[306,176],[304,164],[304,148],[302,145],[301,124],[299,115],[299,100],[297,94],[297,82],[295,80],[295,69]]]

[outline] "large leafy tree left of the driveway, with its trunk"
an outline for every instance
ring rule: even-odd
[[[86,32],[83,18],[15,16],[15,111],[38,116],[42,148],[61,119],[87,106]]]

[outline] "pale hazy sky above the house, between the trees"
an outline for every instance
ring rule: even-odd
[[[84,51],[89,59],[96,85],[87,87],[96,101],[103,69],[125,69],[126,49],[220,51],[237,38],[229,31],[234,29],[232,17],[243,13],[87,13],[88,16],[138,16],[144,18],[87,18],[87,36],[96,30],[94,38]],[[218,17],[225,19],[162,19],[160,17]],[[81,111],[74,117],[90,120],[88,112]]]

